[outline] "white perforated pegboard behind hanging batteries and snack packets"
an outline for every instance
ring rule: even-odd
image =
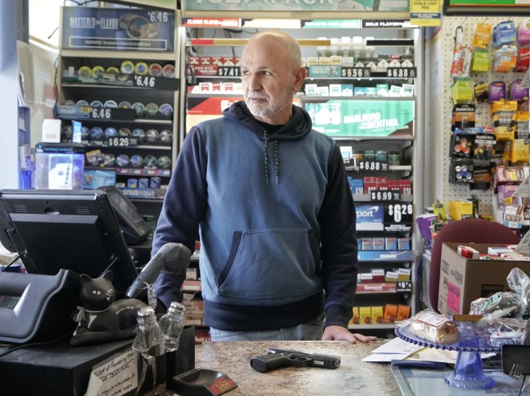
[[[442,134],[442,150],[443,150],[443,160],[442,160],[442,169],[439,169],[440,177],[439,180],[442,183],[441,193],[442,197],[440,200],[442,202],[447,202],[449,200],[461,200],[469,199],[471,196],[476,196],[480,200],[479,213],[481,215],[489,215],[494,212],[494,195],[493,188],[490,188],[488,191],[479,191],[471,190],[471,188],[466,184],[450,184],[449,183],[449,164],[451,158],[451,121],[452,121],[452,92],[451,86],[454,83],[454,79],[451,78],[451,64],[453,60],[453,53],[455,47],[455,34],[457,28],[463,30],[463,40],[462,45],[470,47],[473,49],[472,41],[473,35],[476,30],[478,23],[487,23],[493,25],[493,28],[505,20],[512,20],[515,24],[516,29],[519,28],[519,24],[522,20],[528,17],[492,17],[492,16],[444,16],[442,21],[442,37],[443,40],[442,48],[442,75],[443,75],[443,88],[442,88],[442,120],[443,125],[441,127],[440,133]],[[493,35],[493,31],[492,31]],[[473,73],[471,72],[470,78],[473,80],[473,83],[478,83],[484,81],[485,83],[491,83],[493,81],[504,81],[506,87],[510,86],[513,80],[517,78],[523,78],[524,73],[521,72],[509,72],[509,73],[494,73],[493,72],[493,59],[495,50],[497,48],[493,47],[492,40],[488,44],[488,51],[490,52],[490,71],[487,73]],[[489,103],[480,103],[476,104],[476,126],[492,126],[491,116],[490,116],[490,104]],[[492,180],[493,185],[493,180]]]

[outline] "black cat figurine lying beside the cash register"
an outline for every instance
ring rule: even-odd
[[[122,299],[114,301],[112,271],[97,278],[81,275],[79,294],[83,307],[78,307],[74,320],[78,328],[71,337],[72,346],[126,340],[136,335],[136,318],[143,301]]]

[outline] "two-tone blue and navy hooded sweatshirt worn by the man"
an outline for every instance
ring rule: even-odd
[[[358,273],[355,207],[336,142],[293,106],[270,133],[235,102],[191,128],[153,237],[194,250],[204,323],[222,330],[287,328],[326,313],[347,327]],[[166,306],[182,277],[161,273]]]

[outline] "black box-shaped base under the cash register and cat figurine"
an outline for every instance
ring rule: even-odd
[[[177,352],[157,358],[156,383],[165,383],[166,367],[175,370],[178,375],[195,367],[195,328],[182,330]],[[23,347],[0,358],[2,378],[1,395],[28,396],[84,395],[90,372],[94,366],[119,352],[131,350],[133,340],[108,342],[105,344],[70,347],[69,340],[34,347]],[[9,347],[0,347],[0,354]],[[166,358],[169,356],[167,364]],[[139,359],[139,371],[141,371]],[[169,376],[170,372],[167,372]],[[150,370],[143,383],[143,392],[148,392],[153,385]],[[134,391],[127,393],[134,395]]]

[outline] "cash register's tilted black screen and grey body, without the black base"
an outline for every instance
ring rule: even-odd
[[[112,270],[118,296],[138,275],[105,191],[2,190],[0,243],[20,255],[28,272],[0,272],[4,342],[73,330],[79,274],[99,277]]]

